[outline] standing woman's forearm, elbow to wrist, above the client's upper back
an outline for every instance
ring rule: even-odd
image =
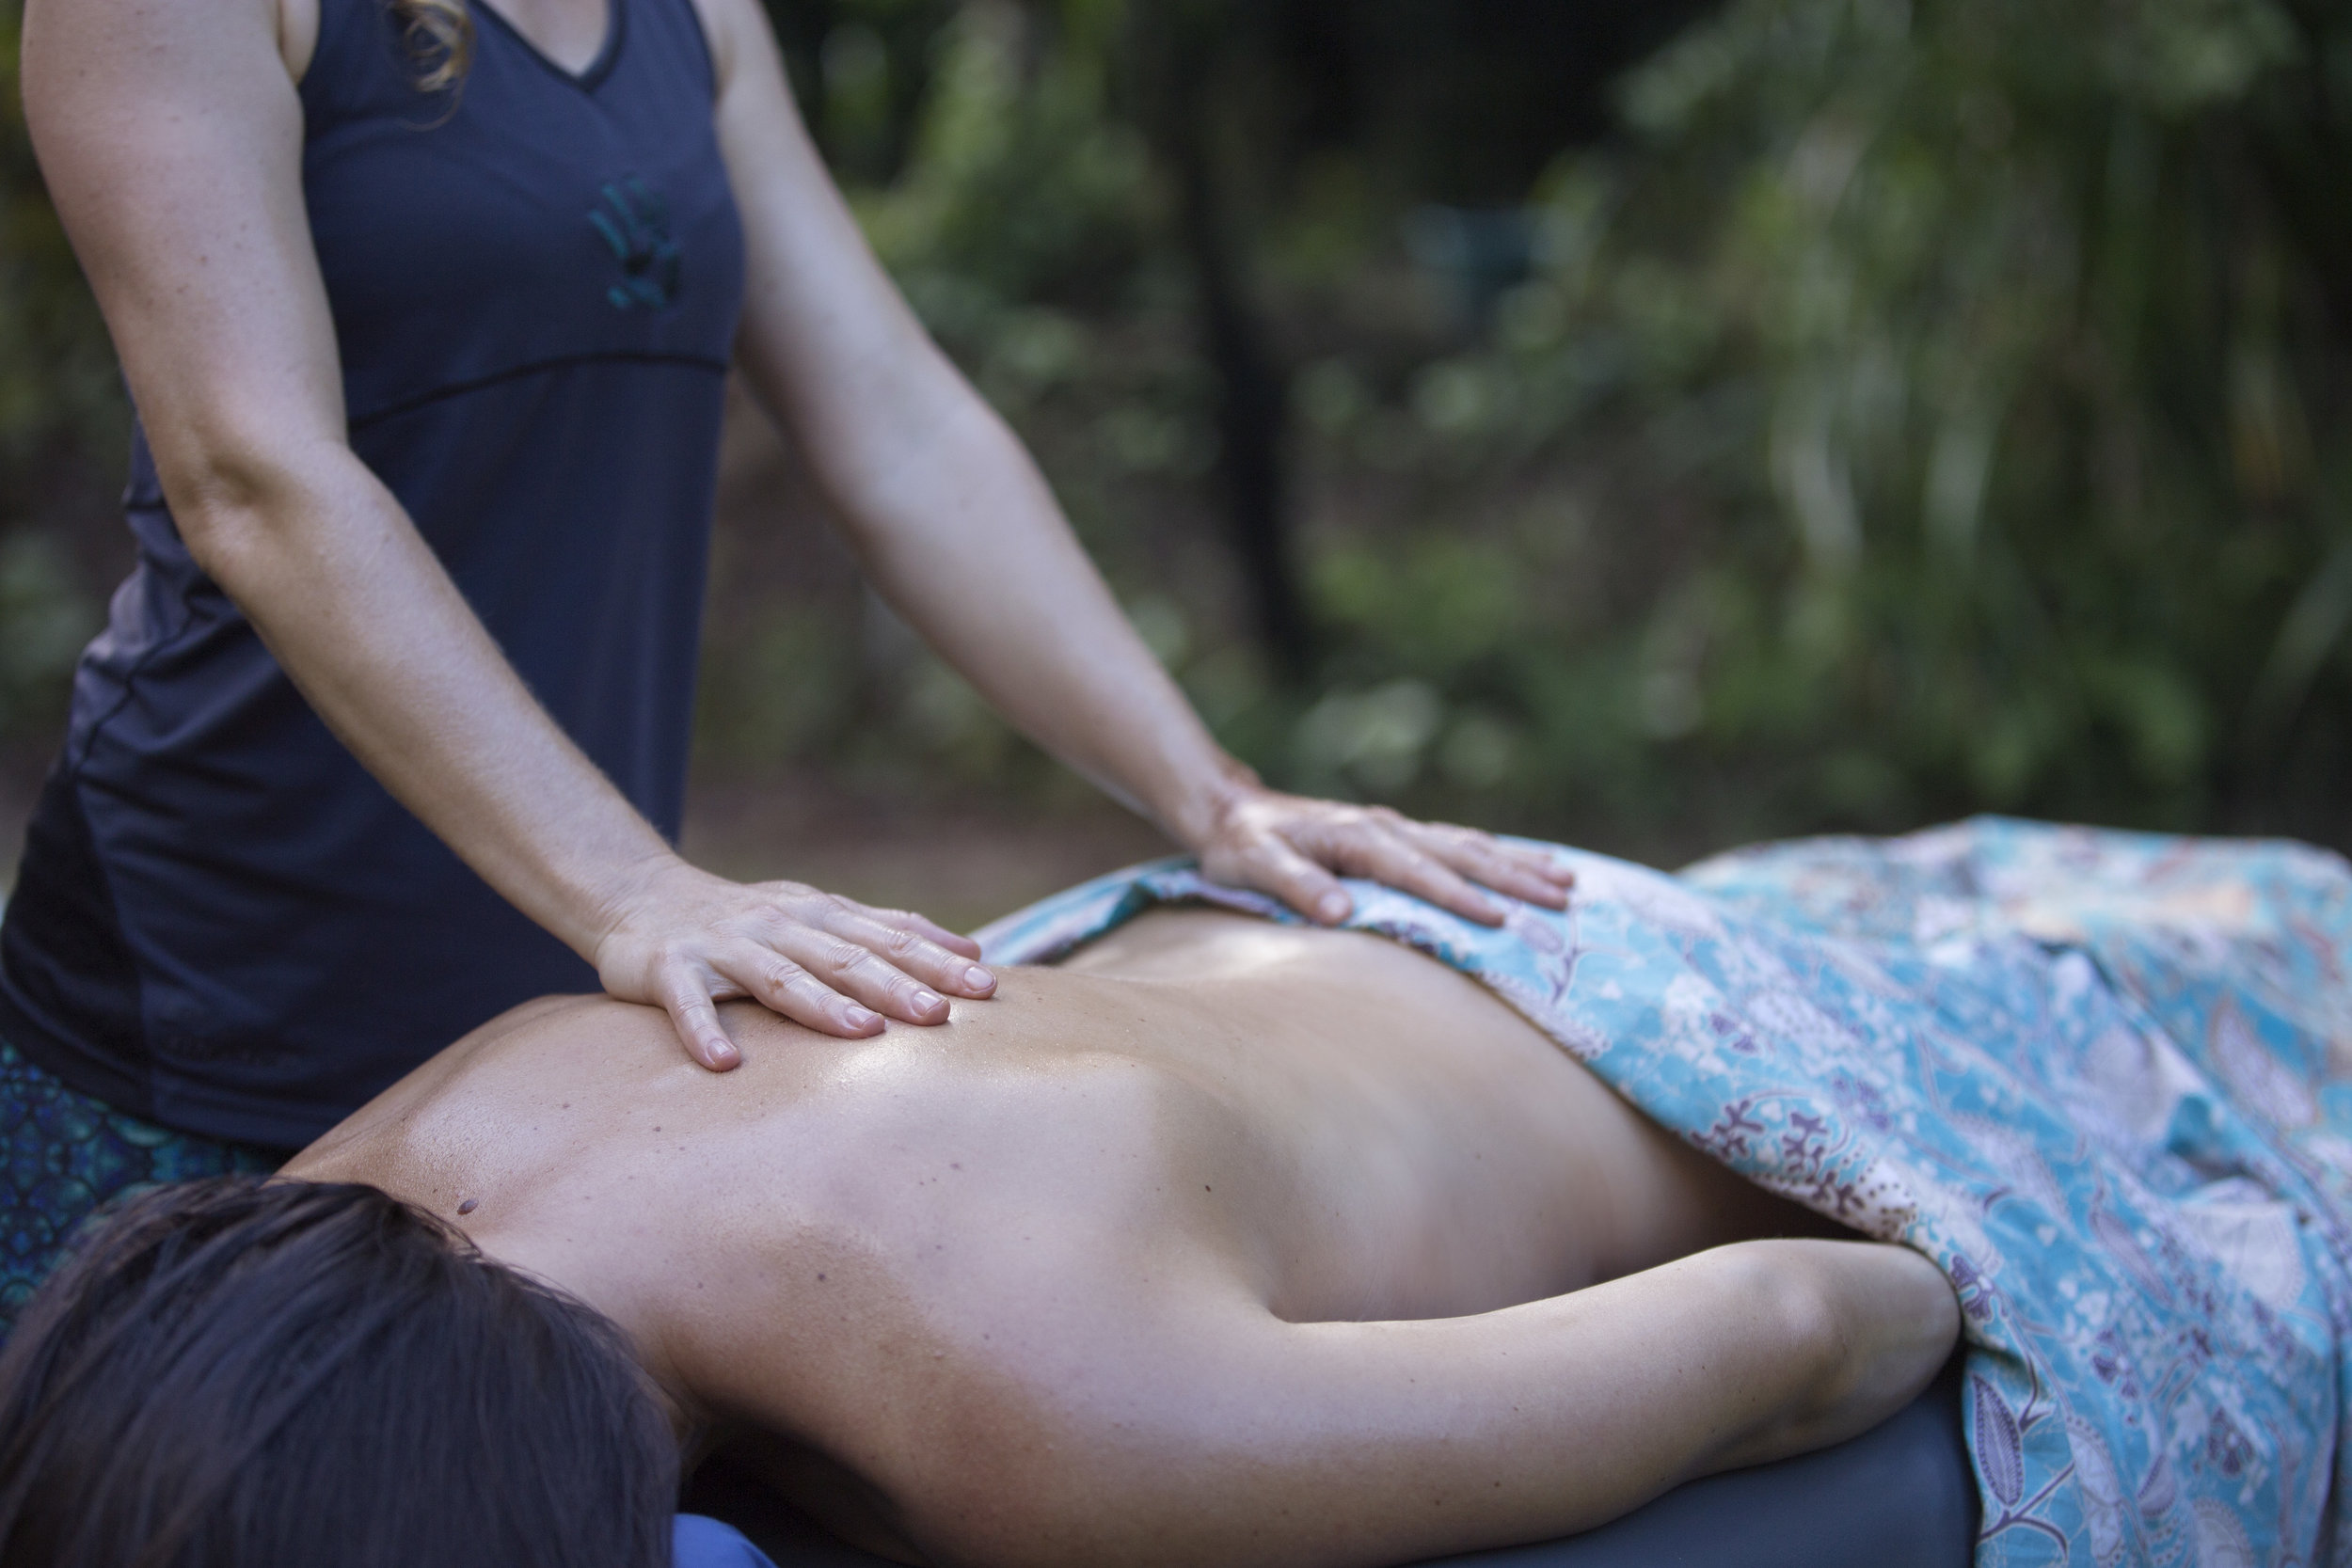
[[[532,698],[346,447],[176,475],[198,564],[426,827],[583,957],[668,844]]]

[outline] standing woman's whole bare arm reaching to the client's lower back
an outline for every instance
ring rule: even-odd
[[[1228,884],[1336,922],[1334,872],[1501,922],[1472,884],[1557,907],[1541,853],[1378,806],[1265,790],[1202,726],[1080,550],[1037,465],[875,263],[793,110],[755,0],[701,0],[720,146],[748,233],[741,362],[875,588],[1065,764]]]

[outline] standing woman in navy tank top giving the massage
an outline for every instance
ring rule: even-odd
[[[0,933],[0,1319],[108,1194],[268,1168],[543,992],[715,1072],[720,999],[861,1037],[990,994],[927,919],[673,849],[729,367],[882,595],[1214,877],[1559,903],[1216,748],[875,266],[757,0],[33,0],[24,96],[139,567]]]

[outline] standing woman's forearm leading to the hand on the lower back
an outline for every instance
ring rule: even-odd
[[[1129,625],[1054,494],[978,397],[887,484],[837,494],[868,576],[1054,757],[1185,844],[1249,780]]]

